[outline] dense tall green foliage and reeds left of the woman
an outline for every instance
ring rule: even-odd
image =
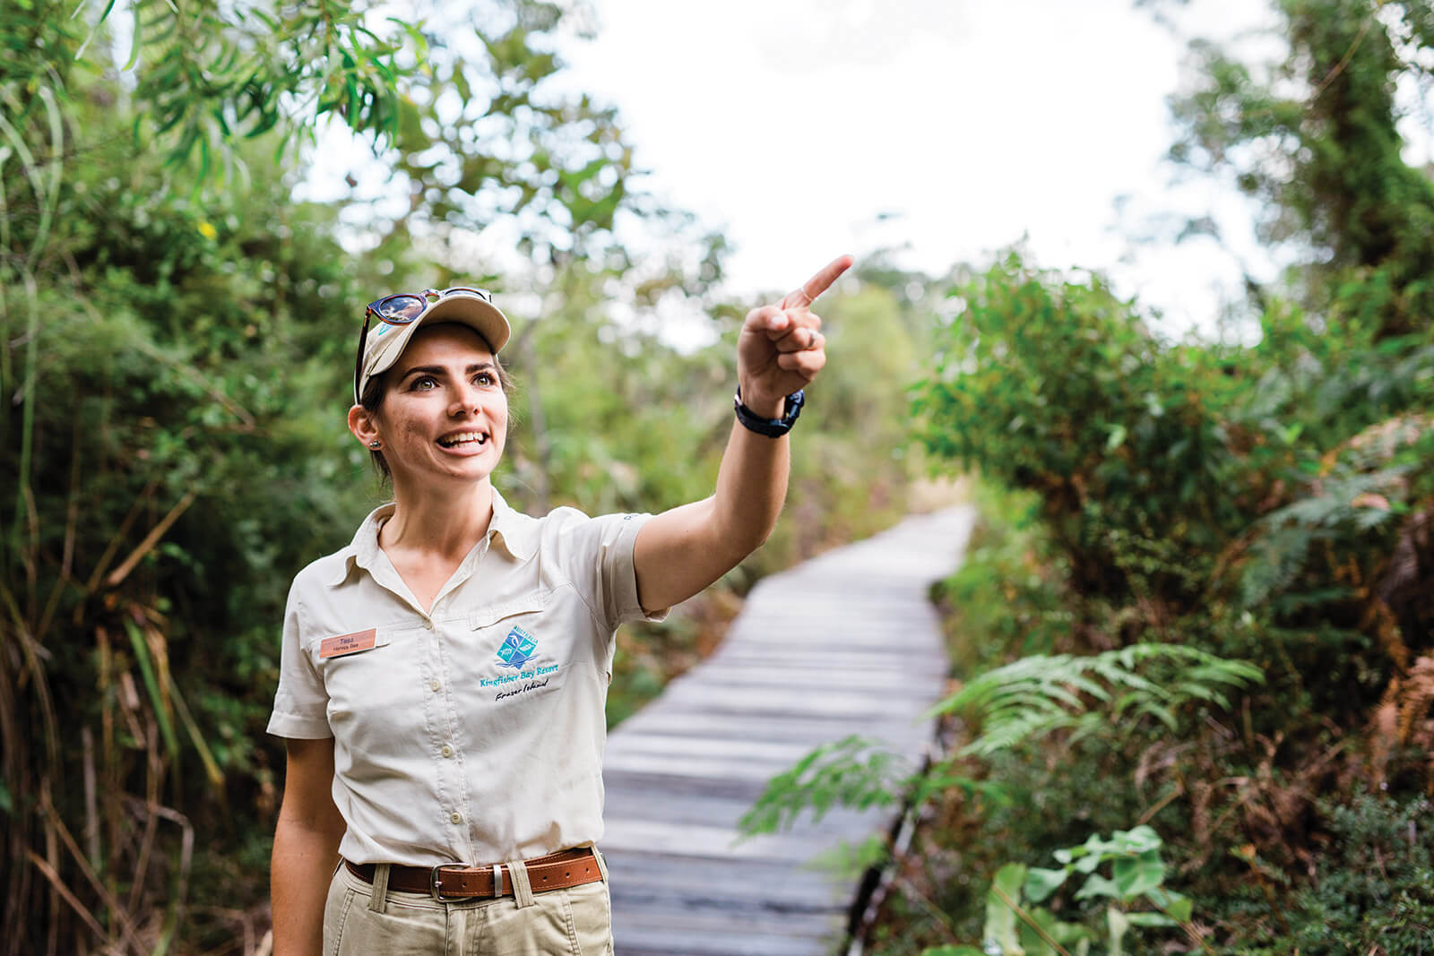
[[[357,295],[333,212],[291,205],[278,176],[194,204],[158,188],[126,116],[79,97],[63,120],[93,136],[85,162],[66,159],[43,193],[6,176],[0,249],[0,377],[22,397],[0,411],[0,595],[4,642],[23,648],[4,655],[0,685],[9,718],[37,717],[6,745],[16,940],[73,919],[26,874],[39,871],[24,847],[67,846],[60,833],[87,834],[87,861],[50,860],[77,899],[93,899],[85,861],[125,887],[112,899],[138,903],[90,902],[102,919],[119,927],[158,906],[166,935],[196,870],[262,857],[251,844],[272,820],[275,755],[257,688],[277,674],[275,582],[315,542],[341,543],[361,506],[336,489],[361,462],[323,426],[348,353],[331,330],[347,330],[341,302]],[[16,212],[30,202],[50,208],[43,231]],[[261,874],[229,883],[252,896]]]

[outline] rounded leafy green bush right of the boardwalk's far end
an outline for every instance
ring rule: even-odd
[[[1081,593],[1196,601],[1189,575],[1113,535],[1189,560],[1236,527],[1220,493],[1229,436],[1209,407],[1228,390],[1220,355],[1166,350],[1098,277],[1061,282],[1014,254],[952,297],[961,311],[913,403],[928,450],[1035,492]]]

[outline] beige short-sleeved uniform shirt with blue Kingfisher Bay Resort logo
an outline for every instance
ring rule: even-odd
[[[488,535],[424,612],[379,548],[393,505],[294,578],[268,731],[334,738],[354,863],[486,864],[602,836],[614,631],[644,615],[648,515],[542,519],[493,492]]]

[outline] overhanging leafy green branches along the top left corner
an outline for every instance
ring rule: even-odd
[[[113,30],[116,20],[123,29]],[[0,90],[11,119],[23,122],[40,103],[85,90],[106,59],[123,63],[133,80],[125,96],[136,106],[128,132],[136,143],[156,145],[171,169],[188,168],[198,191],[219,175],[228,182],[248,178],[254,156],[242,155],[239,138],[272,132],[272,155],[284,155],[295,135],[311,142],[320,116],[391,138],[402,102],[397,85],[417,77],[426,43],[400,20],[384,21],[389,36],[371,23],[363,6],[334,0],[26,0],[0,13],[7,52]],[[128,49],[115,47],[116,34]],[[416,50],[403,54],[404,43]]]

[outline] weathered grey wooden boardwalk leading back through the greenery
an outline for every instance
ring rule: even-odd
[[[607,837],[618,956],[817,956],[856,879],[813,867],[888,830],[892,810],[804,816],[734,846],[766,781],[817,744],[878,737],[919,761],[946,675],[928,585],[955,569],[956,507],[761,580],[721,646],[608,738]]]

